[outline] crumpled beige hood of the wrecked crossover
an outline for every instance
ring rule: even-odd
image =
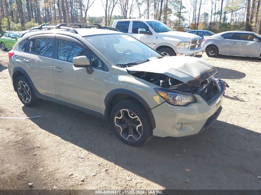
[[[200,87],[201,82],[217,73],[217,69],[203,59],[189,56],[171,56],[126,68],[165,74],[188,85]]]

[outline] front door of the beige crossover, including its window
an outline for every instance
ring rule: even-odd
[[[74,38],[57,35],[56,59],[53,62],[53,78],[57,98],[96,111],[101,111],[103,94],[103,62],[85,45]],[[73,58],[86,56],[94,71],[76,68]],[[94,65],[96,59],[96,65]],[[98,63],[97,63],[98,60]]]

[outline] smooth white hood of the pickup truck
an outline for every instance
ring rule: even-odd
[[[168,37],[168,38],[174,38],[174,39],[180,39],[185,42],[191,42],[192,39],[201,39],[200,36],[194,35],[192,33],[186,33],[186,32],[179,32],[179,31],[169,31],[169,32],[163,32],[159,33],[161,37]]]

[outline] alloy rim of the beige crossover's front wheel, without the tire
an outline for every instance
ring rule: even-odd
[[[120,135],[129,141],[137,141],[142,135],[142,124],[139,117],[132,111],[122,109],[115,116],[115,126]]]

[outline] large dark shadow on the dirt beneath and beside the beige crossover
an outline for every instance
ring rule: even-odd
[[[71,108],[44,100],[23,112],[41,115],[32,121],[44,131],[166,189],[260,189],[261,134],[234,124],[217,120],[202,136],[153,138],[135,148],[123,144],[102,119]]]

